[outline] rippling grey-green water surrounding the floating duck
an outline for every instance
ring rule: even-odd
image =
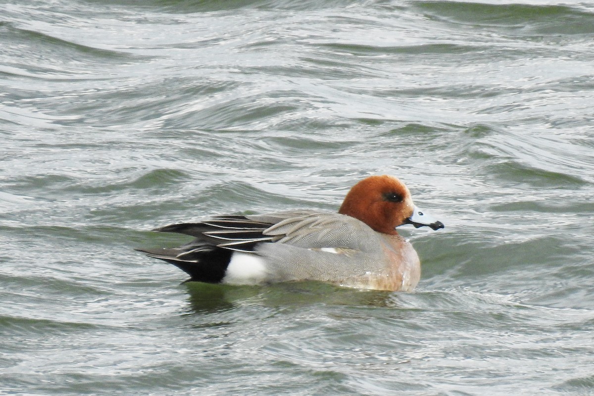
[[[0,394],[592,394],[594,4],[0,11]],[[412,294],[132,251],[384,173],[446,225]]]

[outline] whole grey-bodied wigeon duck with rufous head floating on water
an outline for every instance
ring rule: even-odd
[[[338,213],[295,210],[213,216],[159,232],[195,237],[172,249],[137,249],[172,263],[188,281],[267,284],[321,281],[371,290],[411,291],[421,263],[396,227],[444,228],[413,205],[402,181],[388,175],[359,181]]]

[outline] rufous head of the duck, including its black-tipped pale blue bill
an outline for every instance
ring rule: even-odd
[[[433,230],[444,228],[442,222],[416,208],[405,184],[389,175],[370,176],[355,184],[346,194],[339,213],[388,235],[398,234],[396,227],[403,224],[417,228],[426,225]]]

